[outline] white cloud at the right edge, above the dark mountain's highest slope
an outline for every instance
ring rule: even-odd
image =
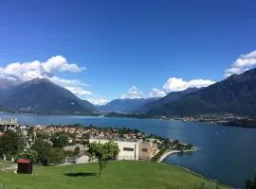
[[[225,70],[224,77],[229,77],[233,74],[242,74],[247,70],[256,66],[256,50],[251,51],[247,55],[241,55],[235,60],[229,69]]]

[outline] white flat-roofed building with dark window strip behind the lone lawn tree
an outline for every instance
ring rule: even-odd
[[[108,139],[92,138],[90,143],[108,143]],[[138,160],[138,142],[137,141],[121,141],[113,140],[119,146],[118,160]]]

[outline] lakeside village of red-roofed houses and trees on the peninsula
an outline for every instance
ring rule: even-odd
[[[148,135],[138,129],[100,128],[79,124],[28,126],[19,123],[17,119],[1,120],[0,139],[9,130],[18,134],[20,139],[19,153],[7,153],[3,150],[1,152],[3,160],[12,162],[18,161],[19,158],[29,158],[29,154],[32,156],[32,150],[37,152],[36,160],[33,163],[56,165],[96,162],[97,159],[88,153],[88,145],[92,143],[106,144],[110,141],[119,147],[119,153],[115,160],[156,161],[154,158],[159,158],[158,156],[167,149],[182,151],[192,148],[192,145]],[[40,141],[42,144],[39,144]],[[45,157],[46,160],[43,160],[40,158],[42,155],[40,155],[40,147],[46,147],[46,144],[51,147],[49,153],[44,154],[44,156],[49,156],[49,158]],[[26,155],[27,153],[28,155]]]

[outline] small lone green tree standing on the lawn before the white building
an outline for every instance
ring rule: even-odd
[[[88,153],[98,159],[100,171],[99,177],[101,177],[101,170],[106,166],[106,161],[115,159],[119,154],[119,146],[112,142],[105,144],[101,143],[91,143],[89,144]]]

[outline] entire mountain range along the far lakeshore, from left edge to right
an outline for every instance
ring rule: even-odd
[[[201,89],[189,88],[162,98],[115,99],[97,108],[45,78],[35,78],[25,83],[2,79],[0,108],[4,111],[39,113],[191,115],[231,112],[253,115],[256,113],[256,69]]]

